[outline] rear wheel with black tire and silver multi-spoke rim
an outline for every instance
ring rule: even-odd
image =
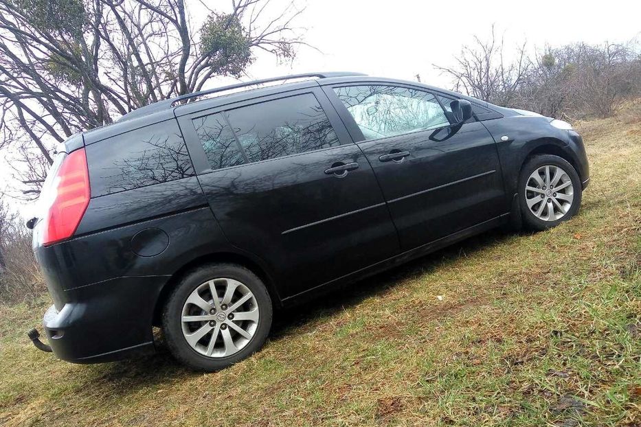
[[[265,344],[272,314],[267,288],[254,273],[236,264],[207,264],[185,275],[172,290],[162,326],[177,360],[199,371],[218,371]]]

